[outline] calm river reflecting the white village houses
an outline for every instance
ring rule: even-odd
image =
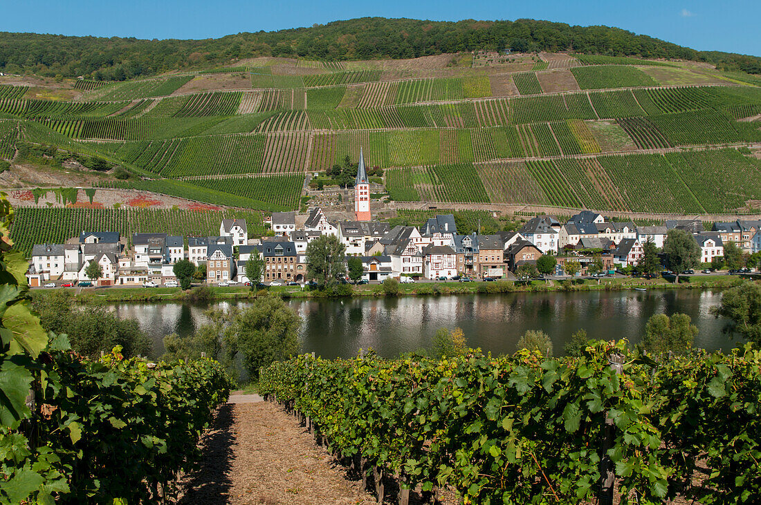
[[[566,340],[584,328],[594,339],[639,342],[653,314],[682,312],[692,318],[699,333],[695,345],[728,351],[740,345],[721,333],[724,321],[709,309],[721,293],[693,290],[648,292],[546,292],[504,295],[447,295],[403,298],[341,298],[291,300],[301,316],[302,352],[323,358],[348,358],[359,349],[374,349],[393,357],[427,347],[441,327],[460,327],[468,346],[493,354],[512,353],[526,330],[543,330],[552,339],[555,354]],[[249,302],[238,302],[246,306]],[[168,333],[187,335],[206,322],[205,309],[225,308],[230,302],[200,306],[176,303],[114,305],[120,317],[134,317],[154,343],[153,357],[164,352]]]

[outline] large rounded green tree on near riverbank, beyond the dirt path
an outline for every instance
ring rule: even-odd
[[[240,356],[250,378],[259,377],[260,367],[298,352],[301,318],[277,296],[256,298],[251,307],[231,308],[222,317],[228,321],[223,331],[225,361],[229,365]]]

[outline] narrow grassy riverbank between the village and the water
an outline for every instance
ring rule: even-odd
[[[396,293],[387,293],[379,284],[364,286],[339,286],[330,295],[317,290],[307,290],[296,286],[277,286],[259,291],[252,291],[247,286],[209,286],[203,293],[183,292],[179,288],[68,288],[72,290],[75,300],[82,304],[110,304],[114,302],[161,302],[161,301],[218,301],[247,300],[266,294],[280,295],[283,298],[351,298],[384,296],[422,296],[422,295],[467,295],[473,293],[496,294],[512,292],[584,292],[584,291],[619,291],[626,289],[727,289],[734,286],[740,278],[728,275],[682,276],[680,282],[667,279],[642,279],[638,277],[606,277],[603,279],[548,279],[531,282],[495,281],[495,282],[419,282],[399,284]],[[65,289],[65,288],[64,288]],[[50,289],[35,289],[32,296],[44,296]],[[199,298],[199,295],[202,298]]]

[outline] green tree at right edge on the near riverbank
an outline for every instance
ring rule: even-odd
[[[715,317],[726,317],[729,322],[724,333],[737,335],[761,346],[761,283],[743,281],[740,286],[727,289],[721,295],[721,304],[712,308]]]

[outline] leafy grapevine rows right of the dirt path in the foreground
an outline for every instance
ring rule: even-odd
[[[633,360],[616,374],[609,359],[624,353],[625,342],[589,342],[564,360],[528,352],[301,356],[267,368],[260,391],[292,401],[344,456],[362,456],[412,488],[451,485],[465,503],[594,501],[603,456],[622,503],[634,503],[635,493],[648,504],[677,493],[753,503],[761,492],[761,352],[693,352],[661,366]],[[615,431],[603,452],[607,416]],[[710,472],[693,486],[704,458]]]

